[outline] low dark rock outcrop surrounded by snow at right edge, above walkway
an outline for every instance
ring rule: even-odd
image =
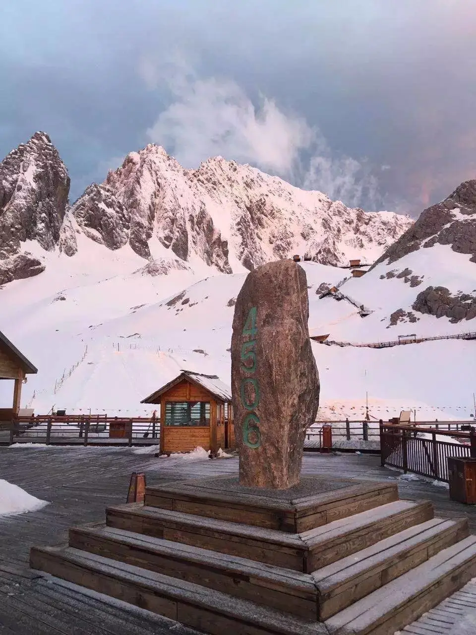
[[[428,286],[418,293],[412,309],[436,318],[446,316],[451,323],[457,323],[476,318],[476,296],[468,293],[454,296],[444,286]]]

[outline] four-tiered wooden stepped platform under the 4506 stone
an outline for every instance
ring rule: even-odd
[[[392,483],[149,487],[30,566],[213,635],[393,635],[476,576],[466,519]]]

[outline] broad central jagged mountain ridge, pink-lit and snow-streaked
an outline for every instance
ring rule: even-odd
[[[152,144],[90,186],[72,214],[109,248],[128,242],[150,258],[148,243],[156,237],[178,258],[198,257],[226,273],[288,258],[296,248],[324,264],[347,264],[349,250],[372,261],[413,223],[393,213],[350,210],[222,157],[184,170]]]

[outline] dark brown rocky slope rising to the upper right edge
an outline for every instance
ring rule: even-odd
[[[476,180],[465,181],[444,201],[423,211],[416,223],[390,245],[371,269],[380,262],[392,264],[412,251],[436,243],[449,244],[453,251],[471,254],[471,262],[476,262]]]

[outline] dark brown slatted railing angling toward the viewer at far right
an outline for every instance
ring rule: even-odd
[[[421,432],[431,435],[430,438],[418,436]],[[405,473],[413,472],[447,483],[447,458],[476,457],[476,434],[380,421],[380,453],[381,465],[391,465]]]

